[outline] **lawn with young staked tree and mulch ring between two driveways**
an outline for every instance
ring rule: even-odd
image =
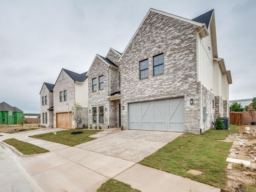
[[[70,134],[71,132],[74,132],[74,131],[76,130],[70,130],[69,132],[68,130],[64,130],[64,131],[58,131],[56,135],[53,135],[52,132],[50,132],[50,133],[44,133],[40,135],[33,135],[29,137],[52,141],[55,143],[61,143],[63,145],[68,145],[68,146],[75,146],[75,145],[96,139],[88,136],[99,132],[99,131],[93,131],[93,130],[79,130],[79,131],[83,131],[83,133],[77,134],[77,135]]]

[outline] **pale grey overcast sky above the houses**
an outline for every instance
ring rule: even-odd
[[[254,0],[0,0],[0,102],[40,113],[43,82],[54,84],[61,68],[87,71],[110,47],[123,52],[149,8],[188,19],[214,9],[229,99],[256,97]]]

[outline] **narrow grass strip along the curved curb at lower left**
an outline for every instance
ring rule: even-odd
[[[3,142],[15,147],[16,149],[18,149],[24,155],[32,155],[32,154],[39,154],[39,153],[49,152],[47,149],[38,147],[38,146],[33,145],[31,143],[27,143],[27,142],[24,142],[24,141],[13,139],[13,138],[3,140]]]

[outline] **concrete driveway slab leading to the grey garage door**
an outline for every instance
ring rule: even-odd
[[[181,134],[183,133],[125,130],[75,147],[137,163]]]

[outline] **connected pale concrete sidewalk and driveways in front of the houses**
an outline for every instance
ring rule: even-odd
[[[8,134],[0,140],[15,137],[50,151],[36,156],[16,157],[44,191],[94,192],[109,178],[128,183],[142,192],[220,191],[203,183],[137,164],[182,133],[126,130],[106,134],[75,147],[28,138],[28,135],[41,134],[42,131],[57,130],[36,130],[12,136]]]

